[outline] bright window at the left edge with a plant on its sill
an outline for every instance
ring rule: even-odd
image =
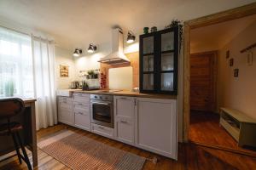
[[[33,97],[31,37],[0,27],[0,97]]]

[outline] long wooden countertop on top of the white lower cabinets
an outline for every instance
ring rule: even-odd
[[[177,99],[177,95],[170,95],[170,94],[142,94],[138,92],[132,92],[129,90],[121,90],[117,92],[102,92],[102,90],[90,90],[90,91],[83,91],[78,89],[69,89],[73,94],[102,94],[102,95],[118,95],[118,96],[130,96],[130,97],[141,97],[141,98],[154,98],[154,99]]]

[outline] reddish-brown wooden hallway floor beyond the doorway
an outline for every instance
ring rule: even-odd
[[[215,113],[191,111],[189,139],[196,144],[212,145],[256,157],[255,150],[239,147],[224,127],[219,126],[219,115]]]

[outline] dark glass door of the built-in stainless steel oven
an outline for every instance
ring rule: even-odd
[[[113,102],[102,100],[90,100],[91,122],[113,127]]]

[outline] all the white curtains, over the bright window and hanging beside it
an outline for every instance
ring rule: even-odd
[[[57,123],[55,46],[0,26],[0,97],[36,98],[37,129]]]

